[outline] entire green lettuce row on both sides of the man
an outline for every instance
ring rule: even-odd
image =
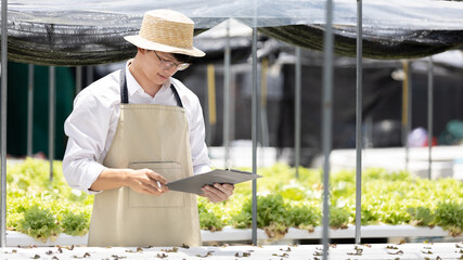
[[[85,235],[88,232],[93,196],[66,184],[61,161],[54,161],[53,180],[49,162],[27,158],[8,165],[8,230],[46,242],[60,233]],[[248,170],[248,169],[244,169]],[[285,165],[261,168],[257,181],[257,224],[273,239],[288,227],[313,230],[321,225],[322,173],[320,170]],[[336,229],[355,223],[356,181],[353,171],[332,173],[330,225]],[[252,183],[235,186],[234,195],[219,204],[198,197],[202,229],[252,225]],[[362,172],[362,225],[411,224],[441,226],[450,235],[463,233],[463,183],[453,179],[426,180],[404,171],[369,169]]]

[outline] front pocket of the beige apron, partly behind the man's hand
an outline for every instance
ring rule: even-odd
[[[129,168],[152,169],[156,173],[163,176],[168,182],[172,182],[183,178],[180,164],[175,161],[169,162],[132,162]],[[184,207],[184,193],[169,191],[160,196],[141,194],[129,190],[129,207],[130,208],[178,208]]]

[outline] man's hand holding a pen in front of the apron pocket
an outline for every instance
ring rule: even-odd
[[[169,191],[167,180],[150,169],[130,170],[127,174],[127,185],[138,193],[154,196],[159,196]]]

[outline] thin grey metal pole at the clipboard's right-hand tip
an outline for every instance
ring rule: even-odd
[[[253,28],[253,119],[252,119],[252,138],[253,138],[253,174],[257,174],[257,28]],[[253,245],[257,245],[257,180],[253,180]]]

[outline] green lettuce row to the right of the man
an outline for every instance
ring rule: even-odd
[[[262,168],[258,173],[257,225],[270,238],[284,236],[288,227],[309,232],[321,225],[322,172],[285,165]],[[355,224],[355,171],[334,172],[330,187],[330,225],[345,229]],[[250,227],[250,183],[236,185],[235,195],[220,204],[200,198],[203,229],[221,230],[226,225]],[[404,171],[368,169],[362,172],[362,225],[410,224],[441,226],[450,235],[463,233],[463,182],[454,179],[427,180]]]

